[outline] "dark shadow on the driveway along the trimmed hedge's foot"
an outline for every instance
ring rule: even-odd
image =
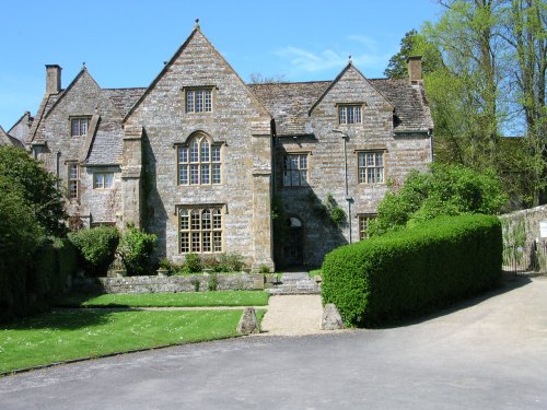
[[[491,297],[496,297],[502,295],[504,293],[509,293],[514,291],[515,289],[522,288],[531,283],[532,280],[526,277],[520,276],[504,276],[500,282],[500,284],[491,290],[485,291],[482,293],[472,295],[468,298],[458,300],[452,303],[446,303],[441,306],[432,306],[427,312],[416,313],[411,316],[391,320],[389,323],[384,323],[380,325],[371,325],[366,326],[369,329],[393,329],[400,328],[406,326],[419,325],[429,320],[437,319],[439,317],[447,316],[458,311],[478,305],[485,301],[488,301]]]

